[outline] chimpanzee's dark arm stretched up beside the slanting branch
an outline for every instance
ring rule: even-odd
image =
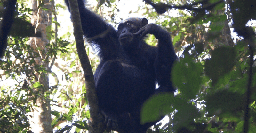
[[[68,0],[65,0],[65,3],[69,9]],[[109,59],[117,57],[118,53],[116,51],[120,51],[117,31],[112,25],[106,23],[102,18],[86,9],[83,0],[77,0],[77,3],[84,36],[99,46],[97,48],[100,48],[100,58]]]

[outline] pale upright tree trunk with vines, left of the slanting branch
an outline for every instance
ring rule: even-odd
[[[44,3],[42,5],[42,3]],[[49,40],[46,38],[46,28],[52,24],[52,9],[54,7],[54,1],[43,0],[36,1],[32,0],[33,15],[31,17],[32,24],[36,27],[36,32],[41,32],[41,37],[31,37],[28,44],[32,46],[39,57],[34,58],[36,64],[32,65],[31,68],[36,66],[43,66],[43,68],[50,72],[49,61],[46,59],[47,47]],[[43,10],[49,9],[49,10]],[[38,92],[36,105],[33,111],[29,114],[32,116],[30,119],[31,130],[35,133],[38,132],[52,132],[52,118],[51,118],[51,107],[50,99],[47,97],[45,92],[49,91],[48,74],[45,73],[34,73],[36,75],[35,82],[39,82],[41,86],[34,88],[35,92]],[[45,97],[46,95],[46,97]],[[49,95],[48,95],[49,96]]]

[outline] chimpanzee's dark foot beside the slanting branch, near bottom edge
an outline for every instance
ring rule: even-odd
[[[118,127],[116,115],[107,114],[102,110],[101,110],[101,114],[105,117],[104,123],[106,124],[107,128],[116,129]]]

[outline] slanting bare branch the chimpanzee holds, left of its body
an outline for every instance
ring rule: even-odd
[[[90,106],[89,133],[102,133],[104,131],[104,118],[100,114],[98,98],[95,92],[95,83],[90,61],[85,51],[81,19],[78,10],[77,0],[68,0],[71,13],[71,20],[74,27],[74,36],[76,40],[76,50],[84,70],[86,96]]]

